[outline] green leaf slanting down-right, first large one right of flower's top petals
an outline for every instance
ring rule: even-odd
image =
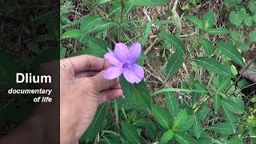
[[[182,52],[182,54],[186,54],[185,46],[178,37],[176,37],[174,34],[163,34],[163,36],[166,38],[167,42],[170,42],[172,46],[178,51]]]

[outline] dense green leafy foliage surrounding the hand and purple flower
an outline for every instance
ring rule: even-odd
[[[130,84],[121,76],[120,83],[126,98],[99,106],[81,142],[254,142],[255,96],[242,94],[246,84],[241,80],[243,72],[238,74],[235,66],[244,67],[244,70],[248,68],[242,54],[250,50],[256,41],[256,1],[224,0],[226,12],[230,14],[226,27],[215,25],[217,17],[222,15],[217,16],[214,10],[202,18],[182,16],[182,22],[186,20],[193,24],[197,35],[197,38],[185,37],[192,39],[192,46],[186,46],[180,37],[181,31],[168,18],[149,20],[146,24],[139,16],[130,18],[133,10],[140,6],[158,6],[166,2],[170,0],[84,1],[82,4],[88,12],[75,21],[69,17],[70,12],[78,13],[72,11],[73,4],[62,2],[61,39],[64,46],[73,51],[69,56],[91,54],[103,57],[107,48],[113,50],[116,42],[126,42],[127,45],[140,42],[142,46],[149,46],[146,44],[150,31],[159,26],[156,41],[161,45],[162,69],[166,70],[162,86],[157,90],[150,90],[150,82]],[[197,5],[200,1],[188,2]],[[246,38],[243,31],[248,29],[251,31]],[[212,36],[219,38],[213,41]],[[67,45],[67,38],[81,43],[82,48],[78,50],[73,44]],[[143,65],[146,58],[148,55],[142,54],[138,63]],[[188,63],[192,64],[188,81],[182,82],[178,88],[167,86],[166,82]],[[237,85],[239,82],[243,86]]]

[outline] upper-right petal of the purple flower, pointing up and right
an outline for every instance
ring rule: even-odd
[[[142,52],[142,45],[138,42],[135,42],[130,46],[129,52],[130,52],[130,62],[131,63],[136,62],[139,55]]]

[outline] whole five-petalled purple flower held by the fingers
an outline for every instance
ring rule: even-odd
[[[114,53],[106,53],[104,57],[112,66],[106,69],[104,77],[106,79],[118,78],[121,74],[130,83],[138,83],[144,77],[142,66],[135,64],[142,52],[142,45],[138,42],[132,44],[130,48],[123,44],[117,43],[114,46]]]

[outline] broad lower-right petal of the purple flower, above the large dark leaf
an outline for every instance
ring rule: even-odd
[[[137,64],[131,64],[130,67],[123,67],[122,70],[126,80],[130,83],[141,82],[144,77],[142,66],[138,66]]]

